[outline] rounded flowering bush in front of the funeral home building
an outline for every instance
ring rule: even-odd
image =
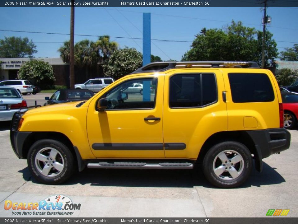
[[[25,62],[18,72],[18,79],[33,79],[38,86],[49,85],[55,81],[54,70],[50,63],[42,60]]]

